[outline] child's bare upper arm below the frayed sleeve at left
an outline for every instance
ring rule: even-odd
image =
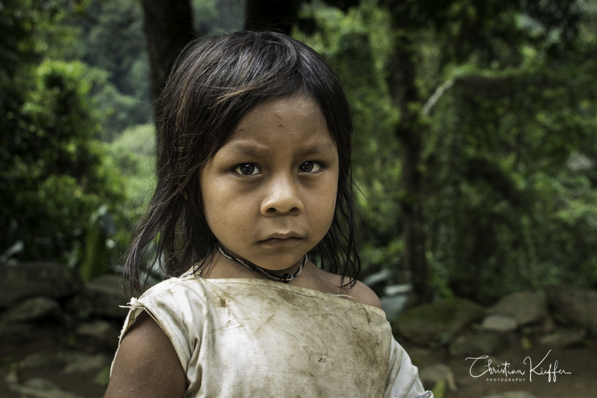
[[[186,374],[170,338],[143,311],[122,338],[105,398],[184,397]]]

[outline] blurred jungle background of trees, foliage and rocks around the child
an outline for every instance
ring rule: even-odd
[[[597,397],[597,0],[0,0],[0,396],[102,396],[153,100],[189,40],[271,27],[346,84],[362,280],[426,387]],[[548,350],[557,383],[465,361]]]

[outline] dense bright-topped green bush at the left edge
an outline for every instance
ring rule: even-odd
[[[88,92],[93,73],[82,63],[45,61],[31,76],[19,116],[3,129],[10,158],[0,166],[2,241],[23,240],[23,260],[72,251],[103,203],[122,198],[123,181],[97,141],[99,119]]]

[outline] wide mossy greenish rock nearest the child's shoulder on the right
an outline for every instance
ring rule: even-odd
[[[436,301],[405,311],[396,329],[417,344],[447,343],[464,326],[481,319],[485,309],[463,298]]]

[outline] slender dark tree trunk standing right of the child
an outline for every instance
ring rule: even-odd
[[[408,35],[404,20],[402,1],[389,2],[393,16],[395,43],[389,62],[387,82],[393,103],[400,111],[400,121],[395,134],[402,149],[402,192],[399,202],[404,221],[404,269],[407,279],[413,285],[414,304],[429,300],[427,286],[426,220],[424,213],[423,163],[421,136],[424,124],[421,123],[421,98],[416,87],[416,65],[413,40]]]

